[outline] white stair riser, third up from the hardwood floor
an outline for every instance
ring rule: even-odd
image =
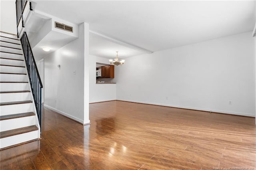
[[[34,112],[33,103],[25,103],[19,105],[4,105],[0,106],[0,115],[12,115],[16,113]]]

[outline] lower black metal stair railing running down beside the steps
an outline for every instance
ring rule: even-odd
[[[38,69],[36,67],[36,61],[34,59],[34,55],[32,53],[32,49],[30,47],[30,43],[28,41],[28,36],[26,32],[23,33],[20,39],[27,69],[28,69],[28,76],[30,79],[30,85],[34,97],[34,102],[36,105],[36,111],[38,116],[39,125],[41,127],[41,114],[42,114],[42,81],[40,79]]]

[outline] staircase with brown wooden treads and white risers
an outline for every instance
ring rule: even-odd
[[[20,43],[16,36],[0,33],[0,149],[40,138]]]

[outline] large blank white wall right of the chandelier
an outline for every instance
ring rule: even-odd
[[[255,116],[252,32],[130,57],[115,77],[118,100]]]

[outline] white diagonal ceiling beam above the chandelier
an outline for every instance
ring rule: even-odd
[[[153,53],[153,52],[154,52],[154,51],[150,51],[150,50],[148,50],[148,49],[144,49],[144,48],[138,47],[138,46],[133,45],[133,44],[130,44],[130,43],[126,43],[126,42],[122,42],[122,41],[116,40],[116,39],[114,39],[114,38],[105,36],[105,35],[103,35],[103,34],[100,34],[100,33],[98,33],[98,32],[94,32],[94,31],[92,31],[92,30],[89,30],[89,32],[92,33],[92,34],[94,34],[94,35],[96,35],[96,36],[100,36],[100,37],[102,37],[102,38],[105,38],[105,39],[107,39],[107,40],[109,40],[109,41],[111,41],[111,42],[117,43],[117,44],[119,44],[119,45],[123,45],[123,46],[128,47],[128,48],[136,49],[136,50],[142,51],[142,52],[144,52],[144,53],[150,54],[150,53]]]

